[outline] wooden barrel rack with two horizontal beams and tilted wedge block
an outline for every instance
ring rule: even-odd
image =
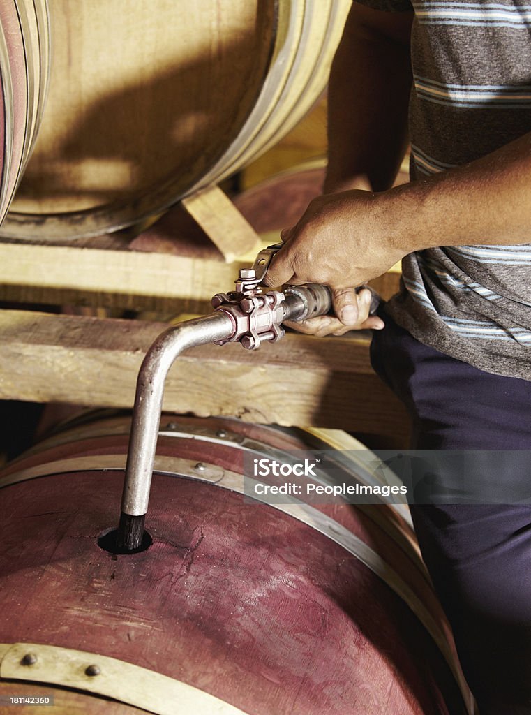
[[[218,248],[203,246],[197,255],[152,252],[149,237],[160,237],[160,224],[132,241],[125,234],[62,245],[4,239],[0,300],[209,312],[210,297],[231,289],[239,267],[249,265],[263,242],[219,189],[190,199],[190,207]],[[163,233],[171,220],[162,220]],[[227,227],[234,226],[237,258],[234,242],[227,241]],[[389,274],[378,287],[389,292],[396,284]],[[144,352],[165,327],[1,310],[0,398],[130,408]],[[404,410],[372,372],[368,350],[364,333],[326,339],[292,334],[254,352],[239,345],[197,347],[172,368],[164,408],[401,438]]]

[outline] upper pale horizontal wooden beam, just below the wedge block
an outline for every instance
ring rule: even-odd
[[[172,310],[232,290],[239,267],[188,256],[0,242],[0,300]],[[192,310],[192,307],[189,307]]]

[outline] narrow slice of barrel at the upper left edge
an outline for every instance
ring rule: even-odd
[[[36,139],[49,76],[46,0],[0,4],[0,222]]]

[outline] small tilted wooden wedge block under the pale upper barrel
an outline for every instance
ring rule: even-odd
[[[257,250],[260,239],[226,194],[216,185],[182,199],[182,205],[224,255],[227,263]]]

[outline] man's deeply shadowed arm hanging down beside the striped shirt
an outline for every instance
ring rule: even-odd
[[[325,192],[392,186],[407,147],[410,14],[353,4],[329,81]]]

